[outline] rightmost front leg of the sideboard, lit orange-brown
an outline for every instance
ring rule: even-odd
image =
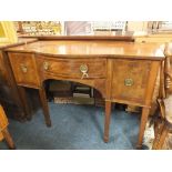
[[[145,130],[145,124],[146,124],[146,121],[148,121],[149,113],[150,113],[149,108],[142,108],[142,117],[141,117],[139,140],[138,140],[136,149],[142,148],[142,141],[143,141],[143,135],[144,135],[144,130]]]

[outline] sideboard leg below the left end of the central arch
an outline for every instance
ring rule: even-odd
[[[47,124],[47,127],[51,127],[49,107],[48,107],[48,101],[47,101],[47,97],[45,97],[45,91],[43,88],[39,89],[39,95],[40,95],[40,101],[41,101],[42,109],[43,109],[45,124]]]

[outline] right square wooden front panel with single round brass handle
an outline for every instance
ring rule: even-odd
[[[112,99],[144,103],[151,61],[114,60]]]

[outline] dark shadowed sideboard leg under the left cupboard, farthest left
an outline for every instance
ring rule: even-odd
[[[20,94],[21,100],[22,100],[22,104],[23,104],[23,108],[24,108],[27,119],[31,120],[31,118],[32,118],[31,108],[30,108],[29,102],[28,102],[26,89],[23,87],[18,87],[18,90],[19,90],[19,94]]]

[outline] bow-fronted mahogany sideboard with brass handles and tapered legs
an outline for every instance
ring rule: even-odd
[[[51,120],[43,82],[74,81],[93,87],[105,99],[105,142],[112,102],[142,108],[138,148],[142,145],[156,77],[165,58],[163,51],[164,45],[159,43],[107,40],[39,40],[6,49],[26,109],[24,88],[38,89],[48,127]]]

